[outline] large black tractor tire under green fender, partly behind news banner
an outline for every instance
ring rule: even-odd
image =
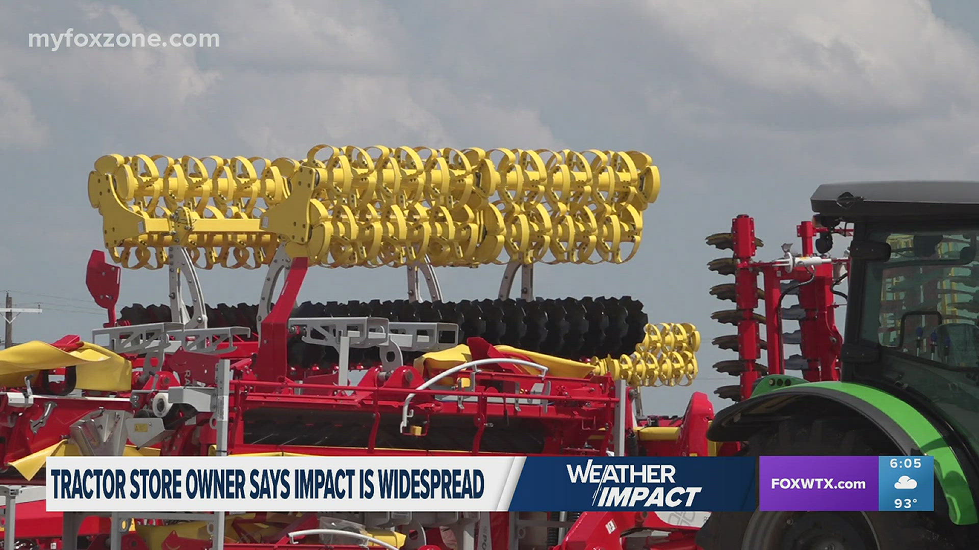
[[[849,424],[849,425],[848,425]],[[784,421],[753,435],[746,456],[900,454],[887,437],[847,421]],[[703,550],[956,550],[920,512],[718,512],[697,533]]]

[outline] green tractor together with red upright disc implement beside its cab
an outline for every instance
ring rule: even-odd
[[[734,257],[712,268],[736,283],[712,294],[738,307],[721,317],[738,327],[738,337],[722,343],[733,343],[739,358],[718,368],[740,384],[721,390],[738,402],[718,413],[708,435],[746,441],[739,452],[750,456],[930,455],[935,511],[718,513],[697,540],[706,550],[972,548],[979,540],[979,184],[827,184],[812,205],[814,221],[799,227],[801,257],[756,261],[746,216],[713,237]],[[805,244],[814,235],[818,255]],[[826,255],[834,235],[853,237],[847,261]],[[843,295],[833,287],[845,278]],[[790,294],[799,303],[782,307]],[[832,322],[834,295],[848,303],[845,339]],[[754,313],[758,297],[764,315]],[[783,320],[798,320],[800,331],[782,333]],[[801,344],[802,352],[785,357],[783,344]],[[758,363],[764,347],[767,367]],[[794,370],[801,377],[785,374]]]

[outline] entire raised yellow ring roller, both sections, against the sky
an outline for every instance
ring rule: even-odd
[[[659,169],[638,152],[318,145],[305,159],[109,155],[89,175],[106,247],[160,268],[256,268],[280,243],[313,264],[621,263]]]

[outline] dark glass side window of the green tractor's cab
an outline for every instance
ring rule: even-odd
[[[877,376],[936,406],[979,453],[979,231],[871,231],[891,246],[866,261],[862,340]]]

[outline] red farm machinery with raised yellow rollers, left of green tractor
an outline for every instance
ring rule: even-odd
[[[86,282],[107,322],[92,343],[0,351],[3,484],[36,482],[47,457],[64,455],[727,452],[706,437],[714,410],[703,393],[683,417],[641,412],[639,389],[696,378],[695,327],[650,324],[629,297],[535,297],[536,263],[636,253],[642,212],[659,192],[644,154],[318,146],[303,160],[113,155],[96,161],[88,191],[109,258],[92,253]],[[494,299],[443,300],[435,268],[488,264],[503,267]],[[404,269],[407,298],[297,303],[313,266]],[[208,303],[198,270],[215,267],[266,270],[256,301]],[[165,270],[168,299],[117,311],[122,269]],[[510,298],[518,278],[520,298]],[[628,536],[692,550],[704,518],[173,512],[106,515],[98,521],[111,527],[91,536],[79,530],[89,520],[66,513],[45,536],[5,535],[8,547],[17,538],[68,549],[296,539],[473,550],[478,539],[493,550],[578,550]]]

